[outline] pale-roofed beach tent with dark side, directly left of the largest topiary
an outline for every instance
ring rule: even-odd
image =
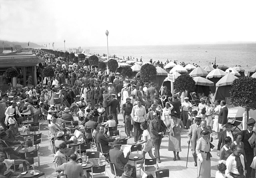
[[[226,98],[230,97],[230,88],[233,84],[234,79],[237,79],[238,77],[228,73],[224,77],[222,77],[217,83],[216,83],[216,92],[213,96],[213,100],[220,99],[225,100]]]

